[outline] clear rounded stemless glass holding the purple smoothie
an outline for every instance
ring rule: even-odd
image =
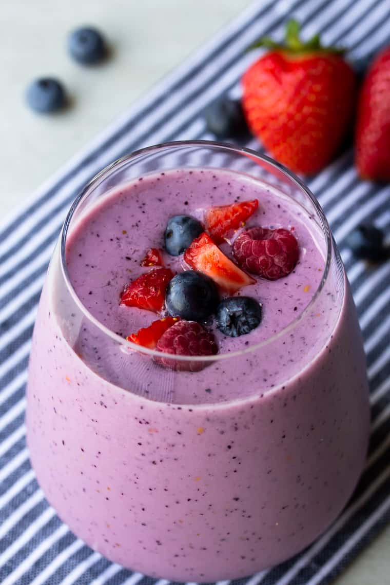
[[[199,371],[173,371],[89,314],[65,253],[74,226],[113,188],[199,167],[232,170],[294,201],[311,222],[324,269],[282,331],[244,350],[191,357]],[[187,400],[176,400],[179,388]],[[27,442],[47,499],[89,546],[175,581],[235,579],[275,565],[309,545],[347,503],[368,428],[356,310],[322,209],[297,177],[250,150],[199,141],[140,150],[85,187],[40,300]]]

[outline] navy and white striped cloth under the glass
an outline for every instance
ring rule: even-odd
[[[167,140],[212,139],[202,112],[223,92],[237,93],[259,36],[281,39],[294,15],[310,36],[342,43],[360,59],[389,42],[389,0],[257,1],[210,43],[160,82],[78,154],[0,226],[0,582],[2,585],[167,585],[108,562],[57,518],[30,467],[25,442],[25,383],[33,322],[47,264],[77,192],[112,160]],[[258,149],[255,140],[249,146]],[[372,437],[367,468],[340,518],[301,555],[233,585],[329,583],[390,514],[390,262],[368,267],[345,237],[363,219],[390,240],[390,185],[357,178],[353,153],[309,181],[346,264],[368,359]],[[227,585],[229,581],[223,581]],[[222,585],[222,583],[220,584]]]

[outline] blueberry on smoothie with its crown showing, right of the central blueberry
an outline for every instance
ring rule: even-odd
[[[216,310],[219,331],[230,337],[239,337],[256,329],[261,321],[261,304],[251,297],[223,299]]]

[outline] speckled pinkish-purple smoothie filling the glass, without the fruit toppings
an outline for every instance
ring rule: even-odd
[[[146,250],[162,247],[167,219],[254,198],[248,225],[294,228],[299,263],[241,289],[263,304],[249,335],[227,338],[209,322],[220,356],[208,367],[164,369],[82,315],[80,301],[121,336],[149,325],[156,315],[119,307],[119,295],[147,270]],[[220,170],[143,177],[71,224],[79,301],[57,250],[34,331],[27,428],[47,498],[89,545],[155,577],[233,579],[298,552],[339,514],[367,449],[367,378],[336,257],[315,294],[325,247],[298,204]]]

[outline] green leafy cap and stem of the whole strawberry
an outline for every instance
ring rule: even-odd
[[[317,53],[322,51],[323,53],[333,53],[336,55],[342,55],[346,52],[346,49],[340,47],[323,47],[321,44],[320,35],[313,35],[311,39],[303,42],[300,36],[301,25],[298,20],[294,18],[290,19],[286,23],[285,27],[285,39],[282,43],[276,43],[271,37],[263,37],[256,43],[249,47],[251,49],[257,49],[258,47],[267,47],[275,51],[284,51],[285,53],[292,54],[304,54],[304,53]]]

